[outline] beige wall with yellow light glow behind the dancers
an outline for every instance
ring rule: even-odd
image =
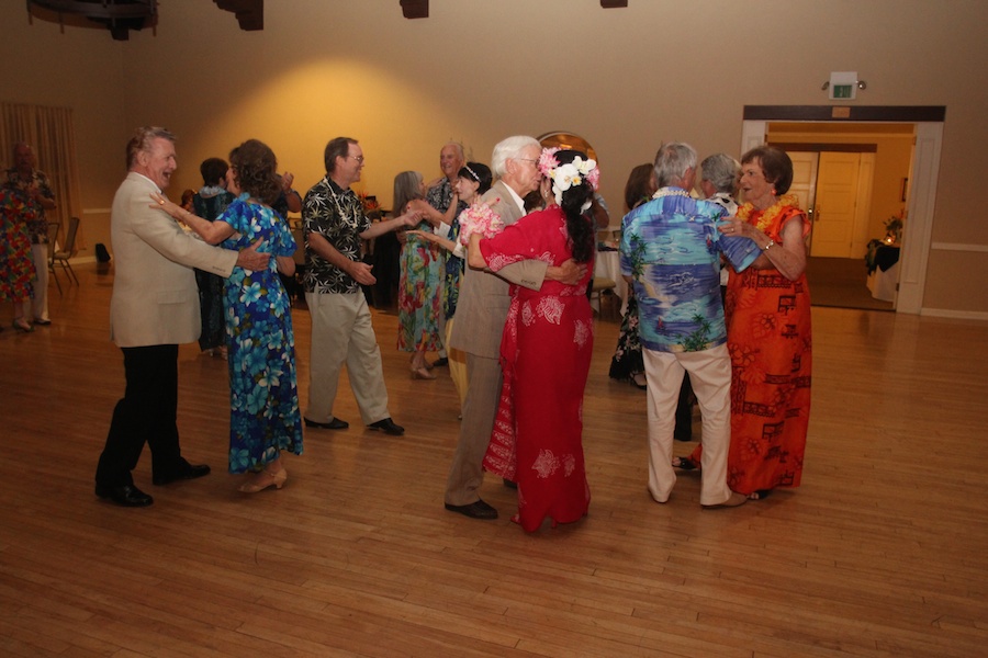
[[[826,105],[832,70],[867,80],[862,105],[945,105],[933,241],[961,252],[966,280],[988,277],[988,223],[970,197],[988,171],[988,2],[944,0],[431,0],[402,18],[394,0],[269,0],[262,32],[212,2],[160,4],[157,35],[104,31],[0,9],[7,100],[76,109],[89,242],[106,208],[128,131],[180,136],[173,195],[199,185],[198,162],[245,138],[268,141],[304,189],[326,140],[349,135],[368,158],[363,189],[385,203],[394,174],[438,173],[439,147],[462,140],[490,159],[502,137],[563,129],[586,137],[620,208],[627,172],[664,139],[737,152],[744,105]],[[99,239],[97,239],[99,238]],[[952,252],[953,253],[953,252]],[[951,253],[931,253],[924,307],[988,314],[953,285]],[[986,315],[985,317],[988,317]]]

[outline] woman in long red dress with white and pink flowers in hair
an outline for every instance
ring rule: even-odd
[[[497,272],[526,259],[587,265],[580,281],[546,281],[538,291],[512,286],[501,342],[504,384],[484,468],[518,485],[527,532],[546,517],[579,521],[590,507],[583,456],[583,392],[593,353],[586,285],[593,275],[595,227],[587,211],[599,180],[594,160],[575,150],[544,149],[539,171],[551,181],[544,211],[494,237],[470,231],[468,263]]]

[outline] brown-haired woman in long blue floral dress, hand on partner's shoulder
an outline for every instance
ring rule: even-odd
[[[271,149],[249,139],[229,154],[229,162],[227,190],[237,198],[215,222],[154,196],[162,209],[212,245],[239,250],[260,241],[258,250],[274,256],[263,271],[234,268],[224,284],[229,472],[250,473],[239,490],[255,494],[284,484],[282,451],[302,454],[291,303],[278,276],[294,273],[295,240],[270,206],[281,191]]]

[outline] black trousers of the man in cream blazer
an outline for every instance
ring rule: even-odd
[[[96,481],[106,487],[133,485],[144,444],[151,451],[151,472],[167,477],[189,467],[178,440],[178,345],[121,348],[126,389],[113,409]]]

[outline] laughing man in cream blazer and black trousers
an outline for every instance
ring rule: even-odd
[[[113,410],[96,473],[96,494],[125,507],[146,507],[150,496],[131,472],[144,444],[151,451],[155,485],[202,477],[205,464],[189,464],[179,447],[178,345],[199,338],[199,291],[192,268],[229,276],[234,265],[267,266],[257,245],[242,252],[211,247],[186,234],[166,213],[150,207],[176,169],[175,136],[138,128],[127,144],[127,178],[110,215],[115,262],[110,337],[123,351],[126,390]]]

